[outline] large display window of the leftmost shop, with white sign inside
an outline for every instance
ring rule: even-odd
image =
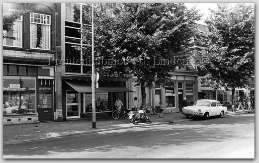
[[[4,76],[3,79],[3,115],[36,113],[36,77]]]

